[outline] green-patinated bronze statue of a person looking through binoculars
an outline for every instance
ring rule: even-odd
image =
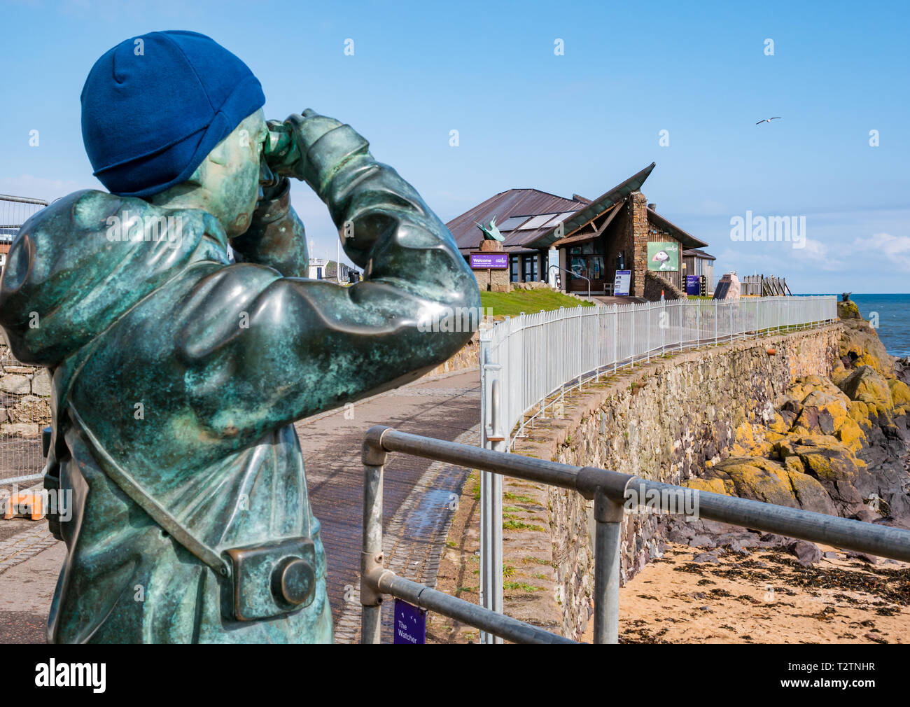
[[[202,36],[144,35],[145,58],[160,56],[153,42]],[[258,109],[219,129],[188,177],[162,172],[163,189],[135,181],[160,150],[96,166],[145,193],[59,199],[22,227],[0,280],[15,356],[53,373],[45,483],[74,501],[72,520],[52,523],[68,554],[49,641],[331,641],[293,423],[417,379],[470,338],[419,327],[479,308],[476,282],[440,219],[350,126],[310,110],[267,124]],[[304,279],[288,177],[329,207],[362,282]]]

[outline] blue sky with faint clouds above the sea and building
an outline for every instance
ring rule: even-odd
[[[596,197],[654,161],[642,191],[716,271],[907,292],[908,6],[3,0],[0,192],[100,187],[79,124],[88,70],[123,39],[190,29],[247,62],[268,117],[349,122],[443,220],[510,187]],[[334,258],[325,207],[303,184],[292,199]],[[806,217],[807,246],[733,241],[747,210]]]

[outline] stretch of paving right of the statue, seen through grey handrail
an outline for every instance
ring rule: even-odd
[[[347,411],[351,417],[351,411]],[[337,642],[359,641],[360,519],[363,466],[360,446],[373,425],[477,444],[480,373],[477,369],[420,380],[345,410],[297,424],[307,465],[310,503],[322,523],[329,558],[328,592]],[[470,470],[391,455],[383,485],[383,551],[390,569],[415,581],[436,581],[454,503]],[[391,601],[384,605],[390,641]]]

